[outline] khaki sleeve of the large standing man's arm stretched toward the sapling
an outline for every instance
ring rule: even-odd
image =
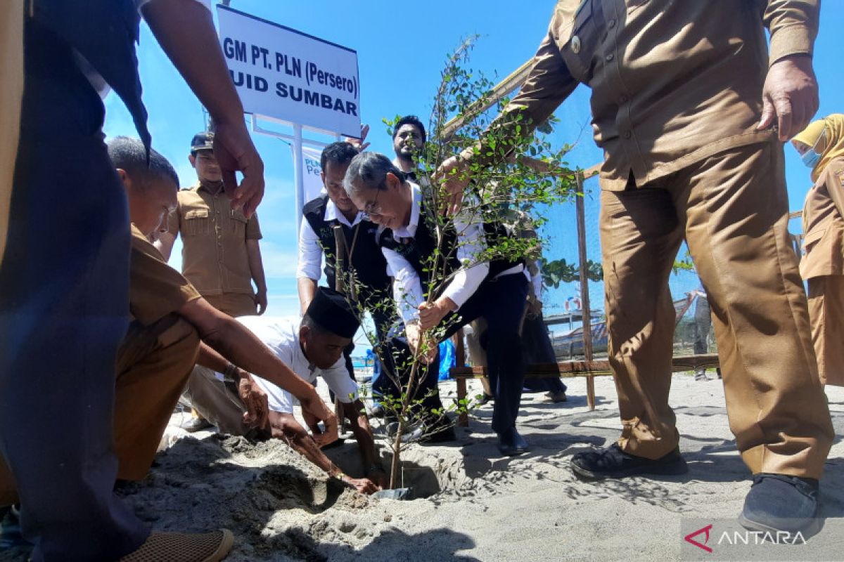
[[[527,75],[527,80],[515,98],[511,99],[505,110],[495,118],[487,131],[495,132],[499,139],[516,135],[516,127],[520,126],[519,136],[527,136],[536,126],[541,125],[559,107],[564,99],[574,91],[576,80],[571,76],[560,55],[560,47],[554,38],[554,29],[559,27],[556,19],[552,19],[548,35],[539,45],[533,56],[533,66]],[[487,139],[481,139],[479,146],[463,151],[462,157],[472,159],[473,162],[487,163],[490,159],[506,157],[513,147],[500,146],[497,151],[491,151]],[[499,154],[489,154],[499,152]]]

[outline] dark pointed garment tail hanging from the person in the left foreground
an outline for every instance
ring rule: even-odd
[[[140,16],[134,0],[34,0],[33,8],[34,19],[84,56],[120,96],[149,148],[135,55]]]

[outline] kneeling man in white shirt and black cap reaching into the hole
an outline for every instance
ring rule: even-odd
[[[265,427],[268,433],[283,439],[311,463],[360,492],[371,494],[387,485],[387,473],[376,456],[375,441],[366,419],[364,404],[358,397],[358,385],[349,377],[344,361],[343,350],[351,343],[354,333],[360,327],[360,321],[346,298],[332,289],[319,287],[300,323],[262,316],[243,316],[237,318],[237,321],[308,383],[317,383],[318,377],[327,383],[342,404],[344,417],[349,420],[367,478],[350,478],[325,456],[305,427],[295,419],[294,397],[288,391],[268,381],[256,379],[257,386],[267,393],[269,399],[269,421]],[[192,393],[191,401],[205,419],[216,423],[221,413],[214,408],[226,402],[232,404],[226,398],[236,395],[232,383],[239,369],[216,354],[206,356],[205,350],[200,352],[198,362],[210,368],[194,371],[192,383],[197,379],[197,373],[205,380],[203,392]],[[226,387],[229,388],[228,392]],[[214,393],[218,395],[214,396]],[[233,417],[227,413],[224,415]],[[317,425],[318,420],[304,409],[302,415],[313,435],[319,436],[321,430]]]

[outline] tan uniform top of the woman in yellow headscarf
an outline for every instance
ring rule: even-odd
[[[844,276],[844,158],[830,160],[803,205],[800,276]]]

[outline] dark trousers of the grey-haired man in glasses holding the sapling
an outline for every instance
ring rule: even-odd
[[[495,395],[492,429],[496,433],[516,425],[522,400],[525,361],[519,331],[526,298],[527,279],[522,273],[503,276],[484,281],[457,313],[446,317],[446,323],[457,319],[446,331],[446,338],[475,318],[483,317],[487,322],[480,345],[486,351],[490,387]],[[394,375],[382,374],[373,388],[378,393],[398,398],[400,391],[396,382],[407,384],[410,373],[403,365],[410,363],[411,354],[406,340],[400,338],[392,338],[385,347],[384,367]],[[423,368],[423,377],[415,392],[417,398],[424,399],[423,408],[429,411],[442,407],[437,390],[439,363],[438,354],[435,361]]]

